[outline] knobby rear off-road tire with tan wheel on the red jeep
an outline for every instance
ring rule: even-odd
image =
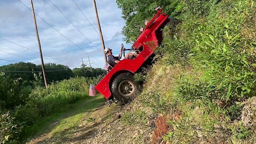
[[[139,86],[132,74],[123,73],[114,79],[111,91],[119,103],[124,105],[134,99],[139,91]]]

